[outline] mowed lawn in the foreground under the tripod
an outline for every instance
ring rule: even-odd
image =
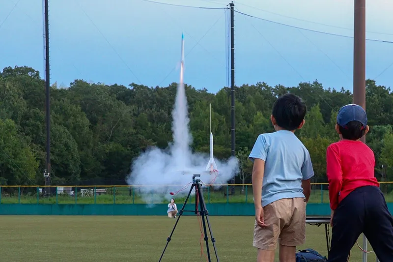
[[[158,262],[175,221],[166,216],[0,216],[1,261]],[[256,261],[253,217],[212,216],[210,223],[221,262]],[[162,262],[206,261],[200,259],[200,235],[197,216],[182,216]],[[203,239],[202,246],[205,251]],[[209,246],[216,261],[210,235]],[[307,227],[307,242],[299,248],[307,247],[327,255],[323,226]],[[375,260],[368,255],[368,261]],[[350,261],[362,261],[356,245]]]

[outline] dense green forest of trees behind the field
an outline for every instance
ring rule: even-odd
[[[194,151],[209,151],[209,105],[215,157],[230,156],[230,88],[216,94],[186,85]],[[124,185],[132,161],[150,146],[166,148],[172,140],[172,108],[177,84],[146,87],[106,85],[75,80],[51,87],[51,164],[53,185]],[[338,109],[352,103],[343,87],[299,83],[271,87],[264,82],[235,87],[237,183],[248,183],[247,159],[257,136],[273,132],[274,101],[285,93],[307,104],[305,126],[296,132],[309,149],[314,182],[326,181],[327,146],[336,142]],[[389,87],[366,81],[370,132],[366,143],[376,158],[375,176],[393,176],[393,94]],[[0,185],[42,185],[45,169],[45,80],[33,68],[6,67],[0,73]]]

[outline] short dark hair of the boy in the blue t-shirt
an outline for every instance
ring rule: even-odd
[[[277,125],[286,130],[295,130],[307,113],[306,104],[294,94],[284,94],[273,105],[272,115]]]

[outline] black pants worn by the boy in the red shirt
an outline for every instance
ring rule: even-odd
[[[364,233],[380,262],[393,261],[393,217],[376,186],[355,189],[338,205],[332,228],[328,262],[346,262]]]

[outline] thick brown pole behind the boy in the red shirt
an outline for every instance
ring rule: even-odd
[[[365,0],[354,1],[353,103],[365,109]],[[365,136],[361,141],[365,143]],[[367,238],[364,234],[363,250],[367,250]],[[363,252],[363,262],[367,262],[366,252]]]

